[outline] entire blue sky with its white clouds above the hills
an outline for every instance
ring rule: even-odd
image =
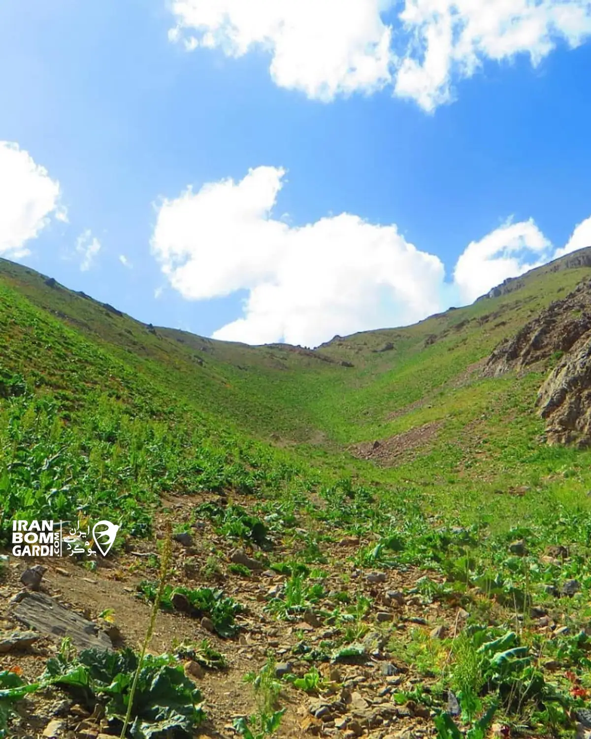
[[[0,1],[0,256],[315,345],[591,245],[591,2],[478,6]]]

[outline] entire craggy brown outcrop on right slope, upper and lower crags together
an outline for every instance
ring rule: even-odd
[[[502,341],[483,374],[498,377],[549,358],[557,364],[539,389],[536,406],[548,443],[591,445],[591,281],[550,304],[513,338]]]

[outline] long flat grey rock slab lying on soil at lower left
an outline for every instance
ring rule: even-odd
[[[113,649],[111,639],[98,629],[97,624],[83,619],[44,593],[21,593],[12,614],[27,628],[56,641],[68,636],[78,649]]]

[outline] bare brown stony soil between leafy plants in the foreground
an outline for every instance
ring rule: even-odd
[[[189,520],[194,505],[202,497],[182,497],[168,501],[174,522]],[[163,536],[163,520],[157,522],[157,537]],[[320,647],[338,636],[338,629],[321,613],[332,610],[335,602],[330,593],[349,590],[363,593],[372,600],[372,607],[363,619],[363,633],[359,638],[364,652],[361,658],[331,663],[319,661],[318,670],[325,678],[321,692],[307,695],[284,682],[280,704],[287,711],[281,723],[279,737],[315,735],[355,739],[413,739],[436,734],[432,712],[424,705],[410,701],[400,704],[394,695],[411,691],[421,684],[429,692],[430,680],[417,675],[412,667],[392,653],[392,639],[403,641],[413,629],[423,630],[433,638],[453,636],[468,617],[468,613],[454,602],[428,602],[417,593],[417,581],[424,573],[411,568],[406,571],[375,571],[356,568],[352,556],[367,542],[345,538],[332,545],[329,575],[324,582],[327,597],[318,603],[314,613],[304,613],[301,620],[285,621],[265,610],[273,593],[280,590],[285,576],[263,567],[253,568],[250,576],[239,576],[228,571],[231,562],[247,561],[255,551],[237,550],[236,542],[217,535],[209,523],[199,524],[194,533],[174,542],[174,571],[171,582],[197,588],[203,585],[221,587],[225,593],[245,606],[245,613],[237,617],[240,632],[236,638],[222,639],[211,633],[205,619],[192,619],[183,613],[163,613],[157,617],[151,642],[152,653],[171,650],[173,639],[200,641],[208,638],[225,655],[226,670],[196,670],[191,678],[205,699],[207,721],[199,735],[215,738],[236,738],[232,728],[235,718],[256,710],[253,689],[245,684],[247,672],[260,670],[267,658],[275,658],[276,669],[282,674],[304,675],[314,662],[307,661],[301,645]],[[55,629],[49,621],[38,624],[41,630],[31,629],[18,619],[18,606],[31,593],[51,599],[55,610],[69,610],[72,620],[92,635],[111,634],[113,646],[134,649],[143,639],[150,607],[137,598],[137,583],[153,578],[154,572],[146,565],[148,556],[156,551],[156,542],[128,541],[118,554],[101,559],[95,572],[83,568],[81,562],[67,557],[61,559],[34,559],[10,557],[0,580],[0,670],[15,670],[28,680],[35,681],[44,671],[47,658],[58,651],[63,630]],[[208,553],[216,551],[219,563],[216,573],[204,573],[195,562],[205,562]],[[236,557],[236,551],[241,551]],[[290,553],[276,542],[275,556],[281,559]],[[249,560],[253,562],[253,559]],[[41,565],[41,566],[39,566]],[[35,576],[33,585],[24,587],[30,571]],[[24,575],[24,573],[27,573]],[[24,580],[23,580],[24,576]],[[115,614],[115,626],[106,623],[99,614],[106,608]],[[434,680],[433,680],[434,682]],[[71,695],[59,689],[33,694],[18,705],[19,716],[13,719],[11,739],[83,738],[109,739],[109,724],[100,710],[81,705]],[[114,735],[113,735],[114,736]]]

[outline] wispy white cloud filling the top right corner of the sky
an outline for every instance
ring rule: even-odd
[[[453,98],[452,81],[486,59],[527,54],[536,66],[561,40],[577,47],[591,35],[589,0],[406,0],[399,19],[410,42],[395,92],[427,111]]]

